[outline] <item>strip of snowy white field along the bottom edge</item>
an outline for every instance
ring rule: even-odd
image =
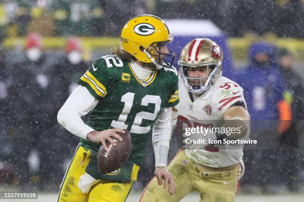
[[[141,193],[132,193],[126,202],[138,202]],[[0,202],[56,202],[57,194],[38,193],[38,199],[35,200],[0,200]],[[198,193],[192,193],[181,202],[198,202]],[[237,195],[235,202],[304,202],[302,195]]]

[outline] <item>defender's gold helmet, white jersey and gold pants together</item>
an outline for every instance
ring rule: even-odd
[[[179,104],[175,108],[179,115],[178,123],[185,129],[185,135],[192,136],[192,140],[202,137],[202,132],[192,132],[197,126],[205,129],[221,128],[219,120],[223,120],[224,112],[233,104],[247,108],[243,89],[228,78],[220,76],[222,60],[222,49],[210,39],[194,39],[181,51]],[[208,77],[203,77],[204,69],[198,69],[201,72],[197,74],[191,72],[192,75],[189,76],[188,67],[191,67],[190,71],[196,71],[195,67],[204,66],[207,66],[207,72],[212,67]],[[196,80],[199,80],[200,86],[191,86],[190,80],[196,84]],[[232,119],[242,120],[240,117]],[[175,121],[176,113],[171,117],[171,123]],[[216,138],[215,134],[209,132],[206,135],[210,136],[209,140]],[[237,181],[244,171],[243,150],[241,147],[237,149],[224,150],[224,145],[205,143],[187,144],[186,149],[182,148],[177,152],[167,167],[174,179],[174,194],[169,195],[168,190],[159,186],[154,177],[146,186],[140,202],[178,202],[194,191],[200,193],[200,202],[234,202]]]

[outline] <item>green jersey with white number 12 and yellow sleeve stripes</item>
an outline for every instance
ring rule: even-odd
[[[145,155],[158,114],[179,101],[175,69],[162,68],[148,79],[140,80],[127,60],[113,55],[95,60],[78,84],[85,86],[98,100],[87,125],[97,131],[129,130],[132,152],[128,160],[135,163]],[[94,151],[100,147],[100,144],[84,139],[81,143]]]

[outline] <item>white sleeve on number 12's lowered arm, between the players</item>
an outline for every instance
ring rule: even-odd
[[[165,108],[153,125],[152,146],[155,154],[155,167],[167,167],[171,111],[171,107]]]

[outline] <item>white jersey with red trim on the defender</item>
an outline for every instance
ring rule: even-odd
[[[217,127],[217,121],[223,120],[223,113],[235,102],[246,102],[243,96],[243,89],[231,81],[221,76],[219,80],[210,87],[204,94],[193,102],[189,92],[185,88],[182,78],[179,78],[179,104],[175,106],[181,121],[186,123],[186,127],[196,127],[201,125],[194,120],[210,120],[207,124]],[[191,126],[189,126],[191,120]],[[199,121],[198,121],[199,122]],[[242,160],[243,150],[221,150],[217,147],[207,147],[205,150],[186,150],[186,155],[195,162],[209,167],[227,167]]]

